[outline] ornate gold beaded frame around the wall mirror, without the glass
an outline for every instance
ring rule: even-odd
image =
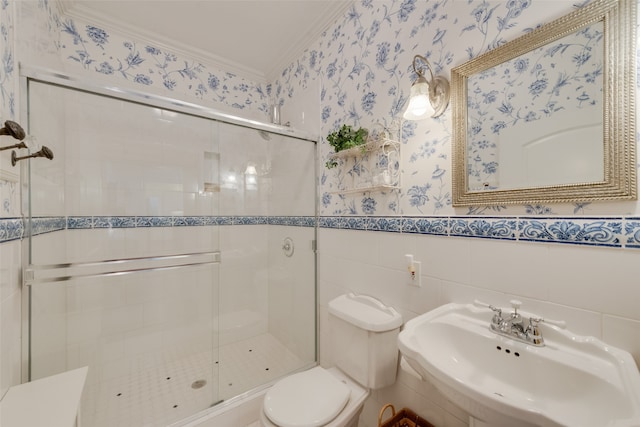
[[[468,78],[597,22],[604,24],[604,180],[508,190],[469,190]],[[636,72],[636,0],[595,0],[453,68],[453,206],[637,199]]]

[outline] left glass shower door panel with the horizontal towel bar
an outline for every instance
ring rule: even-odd
[[[29,81],[30,378],[81,366],[83,423],[221,400],[218,124]]]

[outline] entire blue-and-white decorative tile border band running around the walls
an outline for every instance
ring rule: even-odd
[[[33,221],[33,234],[64,229],[284,225],[640,249],[640,217],[74,216]],[[0,218],[0,242],[27,235],[22,218]]]

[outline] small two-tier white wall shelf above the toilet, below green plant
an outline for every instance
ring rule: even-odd
[[[400,142],[380,136],[359,147],[329,156],[339,170],[334,194],[356,194],[400,189]]]

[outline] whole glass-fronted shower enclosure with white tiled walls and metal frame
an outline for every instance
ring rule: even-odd
[[[165,426],[315,364],[314,141],[23,74],[29,379],[88,366],[83,426]]]

